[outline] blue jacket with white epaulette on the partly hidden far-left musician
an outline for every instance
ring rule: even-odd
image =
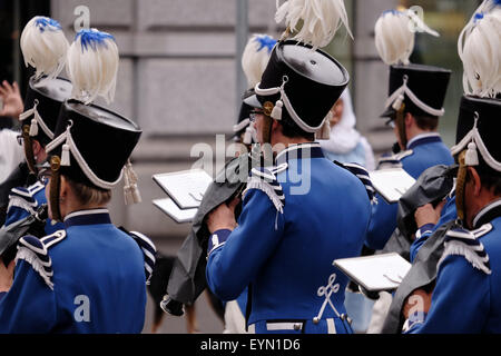
[[[46,181],[47,185],[47,181]],[[13,188],[9,195],[9,207],[7,209],[7,217],[4,226],[9,226],[12,222],[24,219],[26,217],[33,215],[36,210],[43,204],[47,204],[46,185],[38,181],[28,188]],[[57,230],[65,228],[62,222],[51,224],[50,219],[47,219],[45,231],[47,235],[51,235]]]

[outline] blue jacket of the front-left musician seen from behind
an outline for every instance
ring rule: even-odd
[[[72,212],[65,227],[21,238],[12,287],[0,295],[0,333],[140,333],[154,250],[106,209]]]

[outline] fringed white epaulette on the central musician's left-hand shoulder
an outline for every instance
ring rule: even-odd
[[[269,200],[272,200],[276,210],[284,212],[285,196],[281,184],[276,177],[277,174],[286,170],[287,164],[279,165],[278,167],[259,167],[253,168],[247,180],[247,187],[243,192],[243,196],[250,189],[258,189],[264,191]]]

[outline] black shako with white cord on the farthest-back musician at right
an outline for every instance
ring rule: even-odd
[[[440,67],[391,66],[389,99],[381,117],[392,117],[402,103],[406,112],[415,116],[443,116],[450,78],[451,71]]]

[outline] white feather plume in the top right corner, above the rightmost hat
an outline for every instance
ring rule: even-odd
[[[501,92],[501,6],[482,3],[461,32],[458,52],[463,61],[464,92],[497,97]]]

